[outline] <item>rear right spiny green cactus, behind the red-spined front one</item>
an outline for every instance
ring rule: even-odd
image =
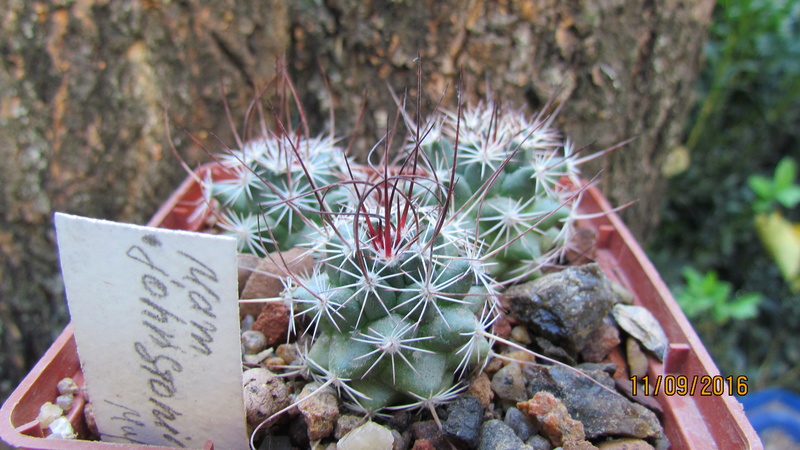
[[[479,103],[461,115],[443,112],[422,142],[442,177],[456,156],[454,207],[477,224],[499,281],[537,276],[560,259],[572,232],[569,186],[582,160],[552,128],[553,117]]]

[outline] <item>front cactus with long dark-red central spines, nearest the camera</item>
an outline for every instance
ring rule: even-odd
[[[287,282],[285,297],[315,334],[311,374],[358,410],[408,397],[427,405],[489,354],[495,287],[474,258],[481,243],[418,177],[386,170],[345,185],[358,201],[319,227],[313,273]]]

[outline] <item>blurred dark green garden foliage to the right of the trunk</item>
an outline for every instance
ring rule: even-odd
[[[648,253],[723,374],[787,390],[767,448],[800,448],[800,3],[718,1],[703,54]]]

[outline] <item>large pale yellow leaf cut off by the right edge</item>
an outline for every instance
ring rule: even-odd
[[[800,224],[781,213],[758,214],[756,232],[792,291],[800,291]]]

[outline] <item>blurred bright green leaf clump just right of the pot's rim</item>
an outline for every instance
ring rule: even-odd
[[[758,315],[761,295],[750,293],[731,298],[733,286],[720,280],[713,270],[702,274],[687,266],[683,277],[686,286],[677,290],[675,300],[690,319],[711,319],[717,325],[724,325],[731,319],[747,320]]]

